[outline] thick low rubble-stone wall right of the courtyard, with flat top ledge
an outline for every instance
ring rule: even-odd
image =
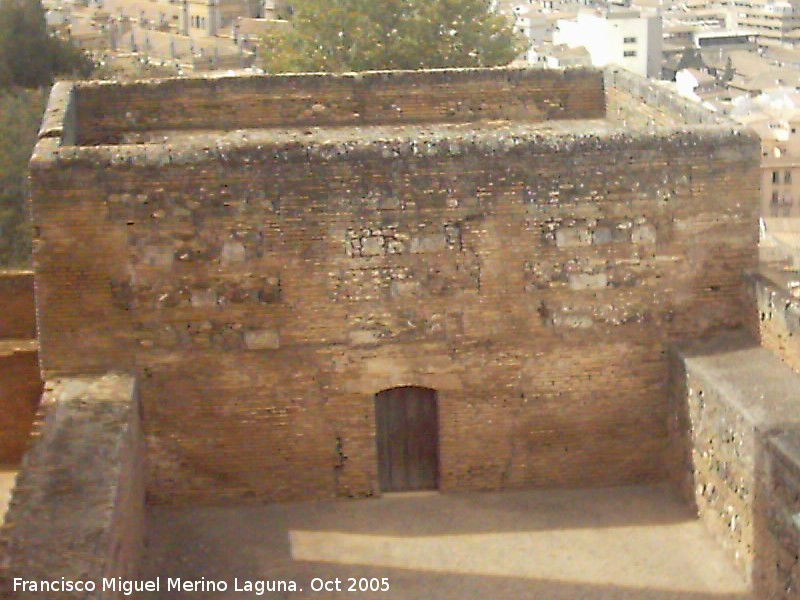
[[[787,515],[800,509],[800,478],[792,474],[800,452],[779,461],[776,443],[800,428],[800,375],[746,333],[684,345],[671,367],[674,483],[756,597],[798,597],[796,589],[775,590],[797,569],[797,530]]]

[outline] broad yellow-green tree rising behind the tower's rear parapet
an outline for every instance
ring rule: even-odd
[[[488,0],[303,0],[266,38],[270,72],[484,67],[521,52]]]

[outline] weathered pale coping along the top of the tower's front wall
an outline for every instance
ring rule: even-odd
[[[518,123],[489,128],[472,124],[470,128],[461,129],[428,125],[420,126],[416,132],[414,127],[403,126],[399,129],[405,133],[395,137],[379,134],[381,130],[390,128],[359,127],[357,131],[355,128],[350,129],[350,135],[338,139],[331,135],[330,129],[324,129],[312,132],[308,139],[303,140],[298,139],[299,133],[289,130],[283,135],[274,131],[240,130],[185,135],[174,143],[105,146],[60,146],[57,140],[46,138],[37,144],[31,158],[31,168],[48,169],[75,165],[164,167],[210,161],[248,163],[265,158],[287,162],[310,158],[341,160],[347,156],[392,159],[457,156],[474,154],[476,151],[490,154],[512,151],[578,153],[592,148],[599,150],[608,145],[652,143],[654,139],[687,148],[701,143],[725,141],[738,145],[739,141],[745,139],[757,139],[746,128],[722,125],[629,132],[621,125],[606,125],[612,122],[604,121],[600,132],[596,132],[591,129],[587,131],[587,123],[595,121],[578,121],[574,128],[553,128],[551,131],[537,124]],[[582,128],[580,124],[583,124]],[[455,131],[460,131],[460,134],[445,135]]]

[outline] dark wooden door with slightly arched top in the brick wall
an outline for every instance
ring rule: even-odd
[[[397,387],[375,395],[378,477],[382,492],[439,486],[436,390]]]

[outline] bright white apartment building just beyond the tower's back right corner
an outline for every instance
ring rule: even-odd
[[[661,15],[639,10],[582,11],[559,20],[554,44],[584,46],[596,67],[615,64],[644,77],[661,77]]]

